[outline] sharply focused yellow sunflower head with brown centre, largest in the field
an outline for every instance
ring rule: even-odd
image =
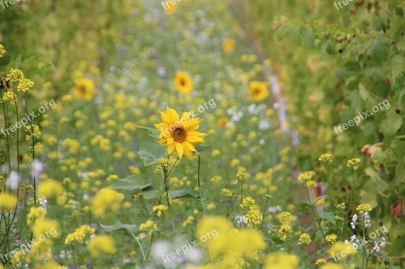
[[[196,131],[201,119],[191,119],[191,112],[184,112],[179,119],[177,112],[169,107],[166,107],[166,112],[160,111],[160,116],[163,123],[155,124],[155,127],[161,131],[159,143],[168,144],[168,154],[176,150],[179,158],[184,154],[192,160],[193,152],[198,154],[194,145],[204,142],[204,136],[207,135]]]

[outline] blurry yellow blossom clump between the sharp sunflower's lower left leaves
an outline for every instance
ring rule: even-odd
[[[116,212],[124,200],[124,194],[113,189],[103,188],[96,193],[90,203],[90,209],[94,216],[104,217],[107,212]]]

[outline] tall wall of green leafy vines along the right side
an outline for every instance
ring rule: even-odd
[[[292,124],[302,137],[297,154],[301,169],[312,170],[311,162],[304,159],[316,160],[320,153],[348,159],[359,156],[369,144],[370,150],[363,151],[368,153],[368,160],[363,158],[365,175],[353,187],[361,202],[387,214],[386,223],[401,225],[403,220],[390,208],[405,198],[400,138],[405,132],[405,2],[349,2],[339,11],[332,2],[321,1],[249,3],[255,31],[274,60],[289,112],[296,118]],[[382,105],[359,126],[335,133],[334,126],[347,123],[358,112],[371,113],[384,100],[389,105]],[[335,182],[335,186],[348,183]],[[333,195],[347,201],[347,195]],[[302,204],[301,210],[306,208]],[[401,240],[392,235],[391,239],[395,245]],[[392,249],[390,255],[395,252]]]

